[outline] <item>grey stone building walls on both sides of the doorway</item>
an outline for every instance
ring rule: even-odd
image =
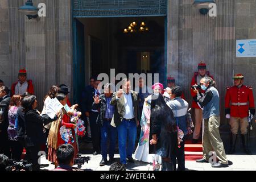
[[[77,91],[73,84],[79,82],[73,79],[73,1],[33,0],[34,5],[43,2],[47,8],[46,17],[31,20],[18,12],[24,2],[0,1],[0,79],[10,86],[18,70],[25,67],[38,98],[43,98],[51,85],[64,83],[71,88],[72,100]],[[220,92],[221,123],[228,126],[224,96],[234,73],[245,75],[245,84],[254,87],[256,98],[256,58],[236,57],[236,40],[256,39],[256,2],[216,0],[214,18],[201,15],[193,0],[166,2],[166,75],[175,76],[177,84],[187,88],[185,97],[191,102],[191,78],[197,64],[204,60]],[[39,99],[40,105],[42,102]],[[255,123],[253,126],[255,133]]]

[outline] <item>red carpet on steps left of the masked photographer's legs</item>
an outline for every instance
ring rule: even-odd
[[[191,140],[185,142],[185,160],[195,161],[203,157],[203,146],[201,142],[192,144]]]

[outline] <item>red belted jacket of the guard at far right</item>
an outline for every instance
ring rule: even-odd
[[[249,104],[248,104],[249,102]],[[225,110],[226,114],[237,118],[245,118],[249,115],[249,109],[254,109],[253,88],[251,86],[232,86],[226,88]]]

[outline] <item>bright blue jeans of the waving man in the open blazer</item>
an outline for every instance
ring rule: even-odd
[[[121,164],[126,164],[126,158],[132,157],[135,146],[135,140],[137,136],[137,125],[135,119],[132,121],[126,121],[123,119],[121,124],[117,127],[117,133],[120,162]],[[127,149],[126,141],[128,142]]]

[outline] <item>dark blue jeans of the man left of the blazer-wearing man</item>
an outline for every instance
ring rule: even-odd
[[[114,158],[115,141],[117,139],[117,129],[110,125],[110,121],[104,121],[101,127],[101,155],[103,159],[108,156],[109,138],[109,158]]]

